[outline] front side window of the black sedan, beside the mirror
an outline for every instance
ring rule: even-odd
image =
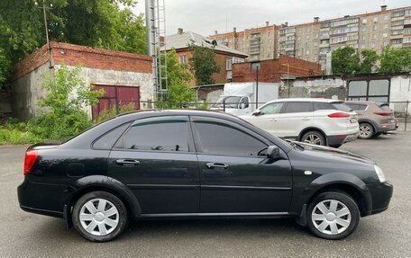
[[[262,156],[267,149],[259,139],[223,124],[196,122],[196,130],[205,154]]]

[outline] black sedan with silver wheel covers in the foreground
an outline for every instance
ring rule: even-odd
[[[388,209],[393,187],[369,159],[286,142],[215,111],[140,111],[60,145],[27,149],[20,207],[64,218],[88,240],[130,219],[296,218],[341,239]]]

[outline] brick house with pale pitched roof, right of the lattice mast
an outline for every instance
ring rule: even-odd
[[[178,61],[181,64],[188,64],[191,58],[191,52],[188,45],[195,44],[196,46],[204,46],[206,48],[215,49],[215,62],[220,66],[220,72],[213,74],[215,83],[221,84],[231,81],[233,63],[241,63],[248,57],[242,51],[231,49],[224,44],[218,44],[216,41],[210,40],[192,31],[183,31],[178,29],[178,33],[166,36],[166,50],[176,49]],[[196,82],[191,82],[192,86]]]

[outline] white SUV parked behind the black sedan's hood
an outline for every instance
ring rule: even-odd
[[[240,117],[279,138],[330,147],[355,140],[359,133],[355,111],[336,100],[279,99]]]

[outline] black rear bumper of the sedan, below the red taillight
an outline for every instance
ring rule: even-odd
[[[27,178],[17,187],[20,208],[27,212],[63,218],[63,207],[59,198],[65,187],[30,182]]]

